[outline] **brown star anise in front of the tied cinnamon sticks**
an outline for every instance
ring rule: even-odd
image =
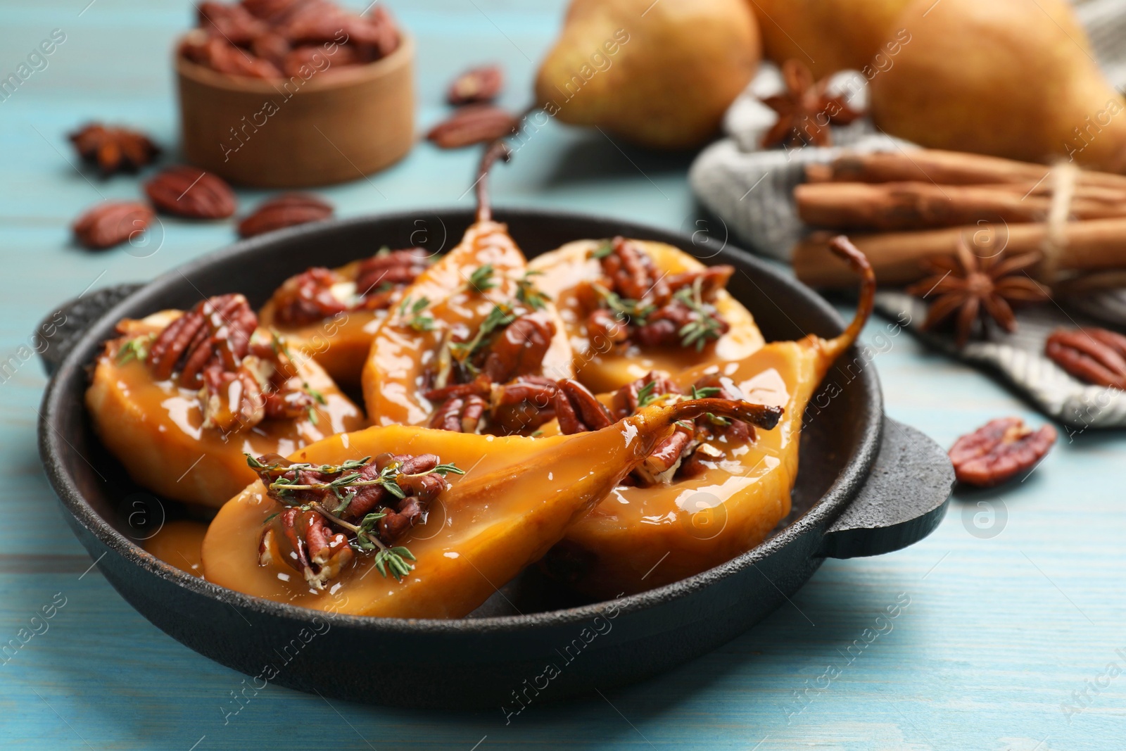
[[[935,295],[922,323],[924,331],[955,316],[957,343],[965,347],[978,318],[991,318],[1011,333],[1017,330],[1013,304],[1051,297],[1044,285],[1026,274],[1039,260],[1035,252],[1007,257],[1002,251],[982,258],[973,253],[965,238],[958,238],[957,254],[923,261],[932,276],[911,285],[908,292],[923,298]]]

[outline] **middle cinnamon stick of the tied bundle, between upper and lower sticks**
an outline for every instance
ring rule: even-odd
[[[1012,185],[1024,193],[1013,190]],[[1052,206],[1051,195],[1034,185],[1012,185],[808,182],[794,188],[794,200],[797,215],[806,224],[839,230],[918,230],[978,221],[1043,221]],[[1070,204],[1072,216],[1079,220],[1126,216],[1126,191],[1094,190],[1094,194],[1076,190]]]

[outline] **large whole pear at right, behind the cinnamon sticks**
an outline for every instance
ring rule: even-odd
[[[923,146],[1126,169],[1126,102],[1062,0],[917,0],[872,79],[876,125]]]

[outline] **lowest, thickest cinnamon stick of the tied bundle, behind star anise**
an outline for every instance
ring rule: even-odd
[[[1126,218],[1067,222],[1061,227],[1064,252],[1061,252],[1057,271],[1101,271],[1126,268]],[[1044,252],[1048,244],[1048,224],[1010,224],[1001,227],[990,242],[972,242],[980,234],[978,225],[957,226],[919,232],[885,232],[850,235],[882,285],[902,285],[917,281],[926,272],[920,263],[933,256],[953,256],[959,236],[971,241],[978,253],[1004,250],[1012,256],[1021,252]],[[833,234],[817,232],[794,247],[792,262],[797,278],[814,287],[848,287],[856,285],[856,276],[830,250]],[[995,250],[994,250],[995,249]],[[1054,281],[1054,279],[1045,279]]]

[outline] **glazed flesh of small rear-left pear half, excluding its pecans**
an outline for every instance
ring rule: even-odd
[[[333,271],[343,280],[341,297],[355,294],[356,274],[363,261],[346,263]],[[392,305],[399,302],[393,298]],[[330,315],[315,323],[300,327],[285,327],[275,320],[274,301],[269,299],[258,312],[262,327],[274,329],[289,342],[291,348],[300,349],[323,367],[338,384],[358,386],[359,375],[372,348],[379,323],[387,316],[386,310],[377,311],[343,311]]]

